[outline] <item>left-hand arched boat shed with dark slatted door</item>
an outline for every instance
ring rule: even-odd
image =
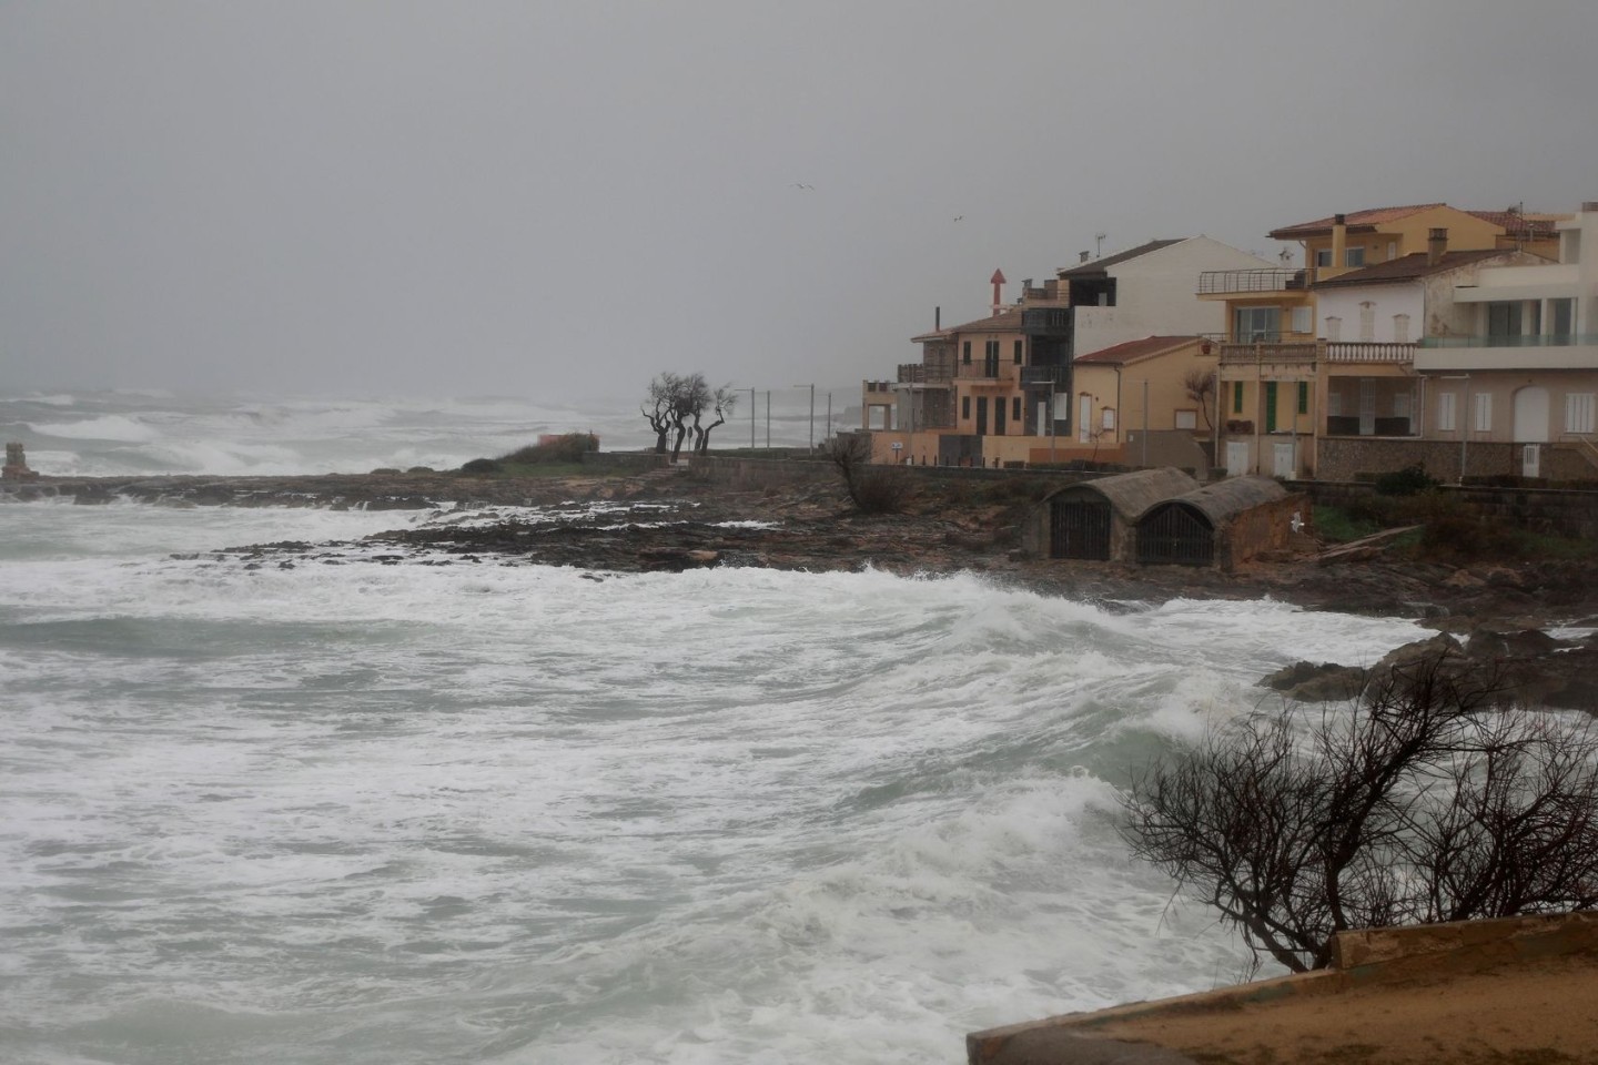
[[[1066,485],[1043,497],[1028,517],[1021,548],[1032,557],[1131,562],[1143,513],[1197,487],[1175,466]]]

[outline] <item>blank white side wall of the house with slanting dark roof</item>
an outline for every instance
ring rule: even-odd
[[[1077,354],[1144,337],[1226,332],[1226,305],[1200,300],[1205,270],[1266,270],[1267,262],[1208,236],[1194,236],[1107,268],[1115,307],[1077,308]]]

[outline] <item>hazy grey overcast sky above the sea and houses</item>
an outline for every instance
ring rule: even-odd
[[[1592,0],[0,0],[0,391],[858,388],[1096,233],[1598,200],[1595,56]]]

